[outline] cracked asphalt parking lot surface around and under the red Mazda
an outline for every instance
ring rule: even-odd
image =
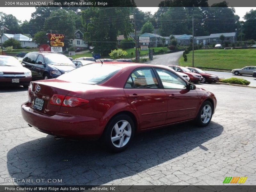
[[[118,154],[96,141],[54,140],[36,131],[20,112],[27,89],[0,88],[0,185],[222,185],[225,177],[248,177],[245,184],[255,185],[256,89],[196,86],[218,100],[208,126],[146,132]]]

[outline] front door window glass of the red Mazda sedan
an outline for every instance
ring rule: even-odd
[[[164,89],[186,89],[187,84],[177,75],[165,69],[156,69]]]

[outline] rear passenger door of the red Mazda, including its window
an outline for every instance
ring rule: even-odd
[[[167,95],[160,88],[153,68],[133,71],[124,86],[124,92],[139,116],[140,129],[164,125]]]

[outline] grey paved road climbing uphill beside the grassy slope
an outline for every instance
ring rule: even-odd
[[[183,51],[168,53],[164,55],[154,55],[152,61],[147,61],[147,64],[153,65],[178,65],[180,56],[182,56]]]

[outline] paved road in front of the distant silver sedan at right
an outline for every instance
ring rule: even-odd
[[[256,87],[256,78],[253,77],[253,76],[250,76],[250,75],[236,76],[236,75],[232,74],[231,72],[220,72],[220,71],[205,71],[205,72],[213,74],[213,75],[217,75],[218,77],[225,78],[225,79],[228,79],[228,78],[231,78],[231,77],[245,79],[245,80],[251,82],[249,86]]]

